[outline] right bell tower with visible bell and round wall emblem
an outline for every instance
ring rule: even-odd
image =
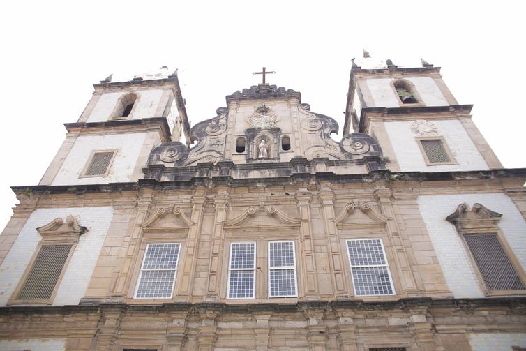
[[[440,68],[399,68],[370,58],[351,69],[344,133],[376,137],[391,172],[455,172],[502,168],[472,121],[473,105],[459,105]]]

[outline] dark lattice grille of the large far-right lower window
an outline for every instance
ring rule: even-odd
[[[497,234],[465,234],[464,238],[489,290],[526,290]]]

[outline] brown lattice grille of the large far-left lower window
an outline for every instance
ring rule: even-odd
[[[17,300],[51,299],[70,250],[70,245],[42,246]]]

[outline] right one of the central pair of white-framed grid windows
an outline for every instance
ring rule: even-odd
[[[296,297],[294,241],[269,242],[269,297]]]

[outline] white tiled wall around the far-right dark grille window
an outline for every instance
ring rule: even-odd
[[[456,298],[484,297],[476,274],[455,227],[446,217],[459,204],[483,204],[502,214],[499,227],[523,269],[526,269],[526,221],[513,201],[502,193],[422,195],[418,198],[423,221],[437,253],[449,290]]]

